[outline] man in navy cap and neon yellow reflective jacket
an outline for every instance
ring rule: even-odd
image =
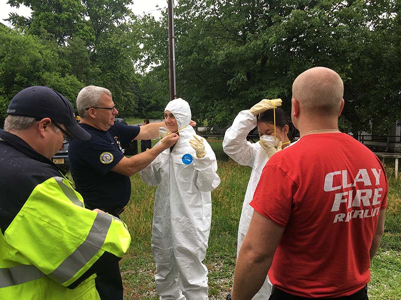
[[[46,86],[11,100],[0,132],[0,299],[98,300],[96,272],[118,263],[126,225],[84,207],[51,157],[88,140],[70,101]]]

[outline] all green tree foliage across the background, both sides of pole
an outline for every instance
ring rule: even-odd
[[[0,97],[32,84],[109,88],[121,115],[161,117],[168,95],[167,13],[138,17],[131,0],[8,0],[2,31]],[[261,98],[281,97],[323,65],[345,85],[340,126],[387,129],[401,119],[399,0],[178,0],[175,7],[177,95],[195,120],[228,124]],[[138,72],[141,71],[141,73]],[[74,101],[73,101],[74,102]]]

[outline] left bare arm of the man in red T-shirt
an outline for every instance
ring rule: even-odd
[[[251,299],[261,288],[283,232],[283,227],[254,211],[235,267],[233,300]]]

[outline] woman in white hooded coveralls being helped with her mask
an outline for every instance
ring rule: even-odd
[[[189,125],[188,102],[178,98],[164,109],[166,128],[178,141],[140,173],[154,196],[152,252],[160,299],[208,299],[208,269],[202,263],[211,226],[211,191],[220,184],[216,155]],[[167,130],[166,130],[167,129]],[[167,133],[166,133],[167,132]]]

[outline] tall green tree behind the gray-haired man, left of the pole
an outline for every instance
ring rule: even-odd
[[[9,0],[12,6],[24,4],[32,9],[31,17],[11,14],[9,20],[21,30],[21,38],[36,36],[45,47],[52,48],[60,78],[71,82],[74,99],[85,85],[104,86],[122,116],[137,112],[141,96],[140,75],[134,63],[139,58],[139,45],[133,33],[135,17],[127,8],[131,0]],[[47,60],[47,58],[46,58]],[[27,80],[26,86],[33,81]],[[66,84],[61,84],[67,88]],[[24,87],[26,87],[24,86]]]

